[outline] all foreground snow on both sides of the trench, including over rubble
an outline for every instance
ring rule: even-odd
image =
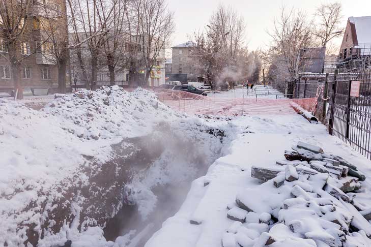
[[[340,225],[331,223],[340,219],[341,215],[347,218],[339,223],[341,227],[348,229],[347,223],[352,215],[357,215],[353,223],[362,229],[347,236],[347,243],[351,243],[347,247],[371,244],[367,238],[371,235],[371,224],[360,216],[353,205],[337,200],[322,190],[327,179],[338,185],[334,178],[322,173],[310,178],[300,172],[295,173],[300,169],[310,169],[307,162],[280,163],[286,167],[276,164],[276,161],[284,159],[285,150],[290,150],[301,141],[323,147],[326,153],[340,155],[356,164],[367,177],[371,176],[368,160],[348,144],[329,136],[325,126],[311,125],[301,115],[240,116],[232,118],[225,126],[222,121],[207,122],[174,112],[146,90],[129,93],[113,87],[97,92],[82,90],[69,96],[61,95],[43,111],[0,100],[0,116],[7,116],[0,118],[0,149],[5,150],[0,161],[0,194],[6,195],[0,198],[0,231],[7,232],[6,235],[0,234],[0,243],[6,240],[8,244],[21,245],[25,240],[21,233],[25,229],[16,233],[17,224],[24,220],[40,224],[43,218],[36,211],[24,209],[32,201],[41,204],[61,196],[53,190],[54,184],[73,176],[80,164],[86,164],[86,157],[95,157],[98,162],[104,163],[111,159],[112,144],[120,143],[123,138],[152,133],[156,126],[166,122],[169,128],[186,132],[189,140],[199,135],[192,130],[210,126],[227,129],[234,140],[229,144],[227,154],[216,160],[205,176],[192,182],[179,211],[163,222],[162,228],[151,237],[146,247],[167,247],[175,243],[180,247],[221,244],[224,247],[235,247],[236,244],[262,247],[272,239],[272,247],[341,246],[334,237],[339,233]],[[125,143],[122,147],[127,148]],[[211,150],[220,152],[221,144],[203,139],[199,149],[205,151],[206,159],[211,162]],[[181,159],[175,159],[180,166],[166,167],[164,163],[170,155],[165,152],[150,168],[135,175],[125,188],[134,192],[130,200],[138,205],[143,218],[153,211],[157,201],[151,188],[170,181],[182,181],[195,174],[195,168]],[[312,162],[310,165],[324,167],[326,163]],[[273,180],[262,183],[251,178],[252,166],[287,169],[297,180],[284,181],[276,188]],[[179,167],[187,169],[182,171]],[[88,179],[82,176],[81,181],[87,182]],[[367,179],[362,186],[354,201],[366,210],[371,184]],[[40,192],[49,192],[51,198],[40,197]],[[236,198],[253,212],[238,208]],[[81,209],[76,202],[72,205],[76,215],[72,224],[66,223],[56,234],[46,232],[39,246],[63,246],[66,240],[72,240],[74,247],[131,247],[152,227],[148,225],[139,233],[130,231],[115,242],[106,241],[99,227],[79,230]],[[18,218],[11,217],[15,212]],[[246,222],[228,219],[228,213],[236,218],[245,218]],[[322,213],[326,215],[319,217]],[[273,217],[280,223],[272,225]]]

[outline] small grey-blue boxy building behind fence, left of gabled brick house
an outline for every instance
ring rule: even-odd
[[[299,73],[322,73],[326,47],[306,48],[300,51]]]

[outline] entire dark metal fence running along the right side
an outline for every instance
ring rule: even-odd
[[[358,82],[360,82],[358,90]],[[355,87],[354,87],[355,86]],[[351,91],[355,90],[352,96]],[[314,114],[329,133],[371,160],[371,73],[369,70],[299,79],[295,98],[317,98]]]

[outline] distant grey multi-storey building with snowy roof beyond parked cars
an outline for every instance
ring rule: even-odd
[[[192,41],[172,47],[173,49],[173,64],[172,74],[193,74],[201,76],[198,59],[194,56],[194,48],[196,44]]]

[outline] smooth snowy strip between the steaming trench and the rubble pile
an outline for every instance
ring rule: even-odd
[[[284,159],[284,150],[299,140],[322,146],[326,152],[341,154],[371,175],[365,158],[328,135],[323,125],[311,125],[299,115],[240,117],[232,122],[241,134],[232,142],[230,155],[218,159],[206,176],[193,182],[180,211],[164,222],[146,247],[170,247],[175,242],[181,247],[220,246],[221,236],[233,223],[226,218],[226,205],[234,203],[242,188],[260,184],[250,177],[251,166],[274,166],[276,160]],[[210,184],[205,187],[205,182]],[[192,225],[191,220],[201,224]]]

